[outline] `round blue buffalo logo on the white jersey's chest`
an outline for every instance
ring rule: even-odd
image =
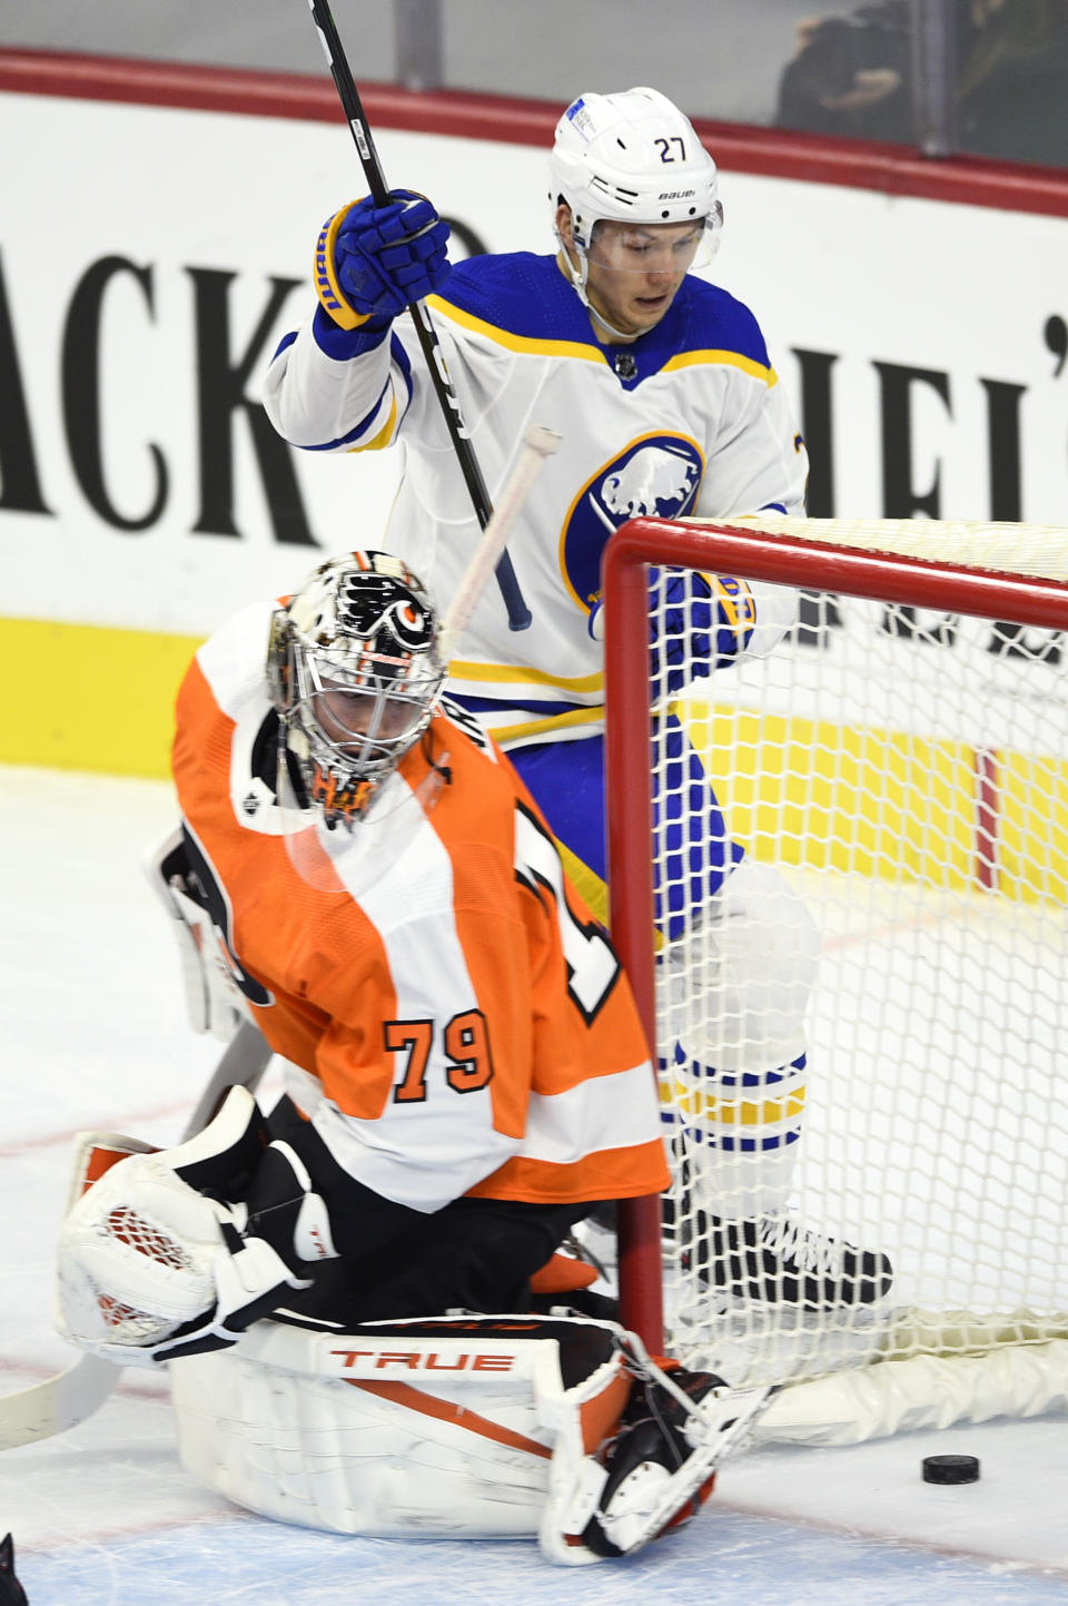
[[[642,435],[586,480],[560,532],[564,580],[583,607],[601,596],[604,543],[628,519],[692,512],[705,459],[686,435]]]

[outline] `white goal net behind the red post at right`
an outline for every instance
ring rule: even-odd
[[[630,528],[673,1352],[834,1380],[785,1391],[787,1437],[1063,1402],[1068,530],[769,519],[747,570],[679,559],[711,527]],[[790,580],[800,622],[708,673],[734,604],[710,631],[700,572]]]

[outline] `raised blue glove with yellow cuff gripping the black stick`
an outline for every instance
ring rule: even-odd
[[[376,207],[371,196],[328,218],[315,247],[315,289],[342,329],[384,329],[411,302],[438,291],[451,271],[448,223],[426,196],[393,190]]]

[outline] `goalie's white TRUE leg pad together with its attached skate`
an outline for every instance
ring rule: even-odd
[[[170,1367],[181,1461],[238,1505],[376,1537],[536,1537],[583,1566],[692,1518],[771,1389],[657,1365],[612,1322],[284,1310]]]

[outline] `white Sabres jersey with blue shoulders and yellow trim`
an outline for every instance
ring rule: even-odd
[[[562,437],[509,538],[533,622],[511,630],[490,583],[451,663],[451,687],[477,699],[506,747],[589,736],[604,718],[602,646],[588,622],[607,538],[639,514],[803,512],[805,445],[756,320],[692,275],[630,345],[594,340],[549,255],[472,257],[427,305],[491,499],[530,424]],[[268,371],[267,411],[297,446],[403,445],[389,528],[374,541],[402,554],[445,610],[480,533],[471,495],[413,321],[398,320],[389,339],[366,347],[360,331],[316,310]],[[753,586],[758,623],[764,589]]]

